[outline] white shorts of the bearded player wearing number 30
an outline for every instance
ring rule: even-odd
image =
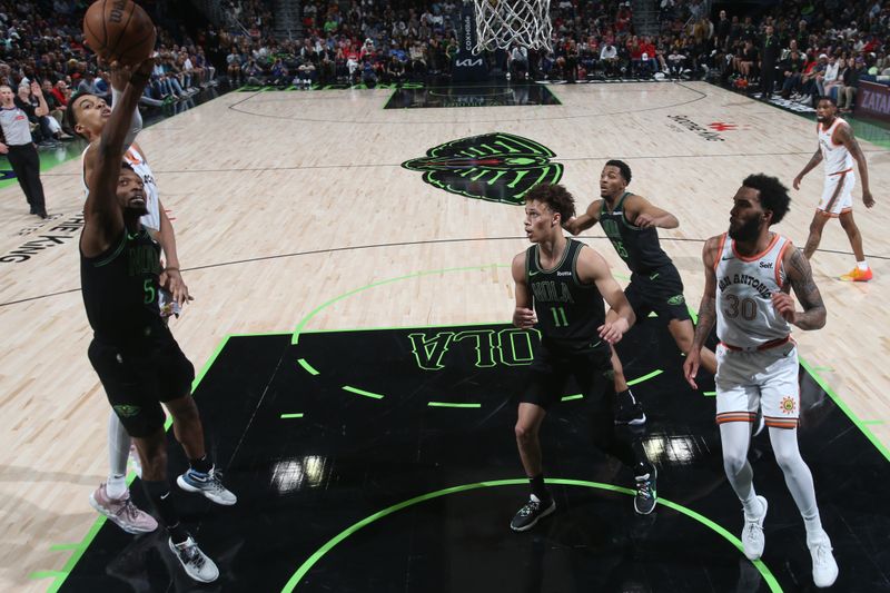
[[[767,426],[797,428],[800,416],[798,347],[793,342],[765,350],[716,347],[716,423],[753,422],[758,407]]]

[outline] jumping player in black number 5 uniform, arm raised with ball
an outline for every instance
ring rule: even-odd
[[[129,123],[152,66],[148,59],[136,69],[113,111],[101,100],[75,101],[81,116],[97,110],[108,119],[83,157],[88,194],[80,273],[93,329],[89,358],[112,409],[134,437],[142,459],[142,484],[170,534],[171,552],[191,579],[211,582],[219,570],[180,524],[170,496],[161,402],[189,458],[187,484],[197,484],[186,490],[200,491],[221,504],[234,504],[236,498],[205,451],[204,427],[190,394],[195,369],[158,308],[160,249],[139,221],[147,214],[144,181],[122,162]]]

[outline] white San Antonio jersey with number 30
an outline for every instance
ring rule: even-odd
[[[714,261],[716,335],[730,348],[755,350],[788,338],[791,327],[771,297],[785,284],[782,256],[790,245],[777,234],[763,253],[744,257],[725,233],[721,237]]]

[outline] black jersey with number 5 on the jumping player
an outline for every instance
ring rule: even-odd
[[[145,229],[123,229],[103,254],[80,254],[87,318],[96,338],[125,352],[144,352],[169,336],[158,309],[160,246]]]

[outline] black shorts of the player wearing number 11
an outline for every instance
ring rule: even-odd
[[[570,377],[575,382],[590,404],[603,397],[611,404],[615,393],[615,372],[612,367],[612,350],[602,345],[596,348],[563,348],[546,338],[535,349],[534,362],[528,368],[528,380],[520,397],[521,403],[535,404],[547,409],[560,402]]]

